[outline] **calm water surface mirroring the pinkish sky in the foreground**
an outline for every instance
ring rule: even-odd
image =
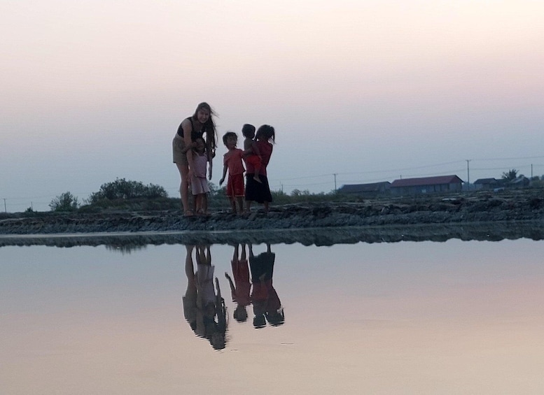
[[[1,247],[0,394],[543,394],[543,246],[271,245],[277,298],[257,288],[284,321],[256,329],[255,306],[233,318],[235,247],[212,245],[224,343],[185,318],[185,245]]]

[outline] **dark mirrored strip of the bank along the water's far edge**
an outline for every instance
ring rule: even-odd
[[[132,250],[145,245],[161,244],[301,243],[302,245],[334,245],[427,240],[444,242],[453,238],[488,241],[515,240],[517,238],[544,240],[544,225],[535,222],[486,222],[326,229],[0,235],[0,247],[4,245],[50,245],[57,247],[106,245],[120,250]]]

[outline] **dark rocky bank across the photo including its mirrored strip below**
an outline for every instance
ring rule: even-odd
[[[267,216],[262,209],[244,217],[224,211],[209,217],[183,217],[180,211],[170,210],[19,214],[0,220],[0,245],[95,245],[107,244],[106,239],[125,244],[269,240],[330,245],[449,238],[541,240],[543,236],[544,196],[540,189],[361,203],[299,203],[272,206]]]

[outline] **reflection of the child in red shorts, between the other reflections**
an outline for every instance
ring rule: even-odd
[[[239,258],[238,258],[239,256]],[[246,259],[246,245],[242,244],[242,254],[239,255],[239,245],[235,245],[234,254],[232,254],[232,277],[225,272],[225,277],[230,284],[230,292],[232,294],[232,301],[237,303],[234,318],[238,322],[246,322],[247,311],[246,306],[249,306],[249,291],[251,284],[249,282],[249,268],[247,266]]]

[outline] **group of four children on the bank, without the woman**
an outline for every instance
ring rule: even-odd
[[[249,189],[263,189],[263,193],[251,191],[251,196],[260,196],[264,194],[263,199],[258,199],[260,203],[265,203],[265,212],[268,210],[268,203],[272,201],[270,187],[267,178],[263,176],[265,182],[261,180],[261,171],[266,168],[268,159],[272,154],[272,143],[274,143],[275,131],[270,125],[263,125],[256,129],[251,124],[244,124],[242,127],[242,135],[244,136],[244,150],[237,148],[238,136],[234,131],[228,131],[223,135],[223,143],[228,149],[228,152],[223,156],[223,176],[219,180],[219,185],[225,181],[228,173],[226,194],[230,200],[232,213],[244,214],[249,212],[252,199],[247,199],[246,190],[244,188],[244,162],[248,170],[251,166],[253,176],[248,180],[246,187]],[[263,163],[263,156],[259,150],[259,143],[266,144],[267,157]],[[209,186],[206,179],[207,164],[209,164],[209,180],[211,180],[212,162],[211,157],[207,155],[206,143],[204,138],[197,138],[193,144],[193,177],[191,178],[191,191],[193,194],[193,206],[198,215],[208,215],[208,199]],[[246,198],[246,207],[244,210],[244,197]]]

